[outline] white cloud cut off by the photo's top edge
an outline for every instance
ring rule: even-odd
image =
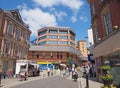
[[[42,7],[53,7],[57,5],[67,6],[72,10],[79,10],[80,7],[84,4],[82,0],[33,0],[36,5]]]

